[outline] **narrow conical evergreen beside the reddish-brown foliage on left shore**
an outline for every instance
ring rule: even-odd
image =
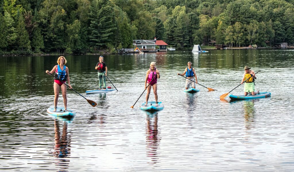
[[[17,26],[16,26],[16,33],[17,33],[17,45],[23,49],[31,49],[31,41],[29,40],[29,33],[26,31],[26,24],[24,23],[24,17],[22,15],[19,16]]]

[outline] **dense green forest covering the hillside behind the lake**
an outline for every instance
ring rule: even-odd
[[[1,0],[0,54],[84,54],[157,37],[169,45],[294,43],[294,0]]]

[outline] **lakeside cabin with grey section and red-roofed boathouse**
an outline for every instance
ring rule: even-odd
[[[157,52],[156,46],[159,46],[159,51],[167,51],[168,44],[162,40],[156,40],[156,37],[153,40],[133,40],[133,49],[138,47],[144,53]]]

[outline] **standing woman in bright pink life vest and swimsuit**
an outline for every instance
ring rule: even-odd
[[[152,80],[152,78],[154,79]],[[157,96],[157,79],[160,78],[159,71],[155,68],[155,62],[150,63],[150,68],[148,69],[146,73],[146,78],[145,78],[145,90],[147,89],[147,94],[146,94],[146,104],[148,103],[149,95],[151,92],[151,86],[153,88],[153,93],[155,96],[155,102],[156,106],[158,106],[158,96]],[[151,81],[152,80],[152,81]],[[147,85],[150,83],[150,85],[147,87]]]

